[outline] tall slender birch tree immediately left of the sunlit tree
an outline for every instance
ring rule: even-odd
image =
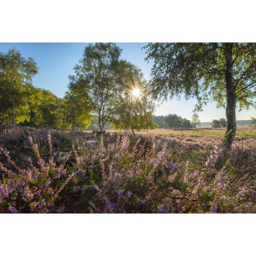
[[[120,54],[121,49],[113,43],[89,44],[74,68],[75,76],[70,76],[71,84],[78,83],[87,91],[100,131],[115,117],[114,103],[120,92],[116,72]]]

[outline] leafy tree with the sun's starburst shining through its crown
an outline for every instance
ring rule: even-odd
[[[127,61],[120,61],[117,73],[121,91],[119,99],[116,101],[116,118],[113,126],[117,129],[155,129],[158,127],[153,123],[153,111],[155,104],[151,100],[147,91],[147,82],[143,77],[143,72]],[[138,95],[134,95],[137,90]]]

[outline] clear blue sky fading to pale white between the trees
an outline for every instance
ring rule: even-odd
[[[39,74],[33,79],[33,84],[39,88],[49,89],[58,97],[63,97],[69,83],[68,76],[73,73],[73,67],[82,58],[84,47],[87,43],[0,43],[0,52],[7,52],[11,47],[20,50],[24,57],[33,57],[39,66]],[[142,46],[146,43],[117,43],[122,50],[121,58],[126,59],[143,70],[145,78],[150,78],[152,63],[144,61],[146,54]],[[157,106],[157,116],[170,113],[191,119],[192,110],[196,100],[168,100]],[[212,119],[225,118],[225,109],[216,109],[215,103],[208,103],[199,112],[201,122],[210,122]],[[249,120],[256,117],[256,110],[250,109],[237,112],[237,120]]]

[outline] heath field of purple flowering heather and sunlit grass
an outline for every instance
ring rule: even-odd
[[[255,129],[90,132],[0,126],[0,212],[255,213]],[[88,143],[94,140],[96,143]]]

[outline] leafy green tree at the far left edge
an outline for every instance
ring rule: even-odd
[[[0,52],[0,114],[12,123],[29,121],[32,78],[38,72],[35,60],[25,59],[19,50]]]

